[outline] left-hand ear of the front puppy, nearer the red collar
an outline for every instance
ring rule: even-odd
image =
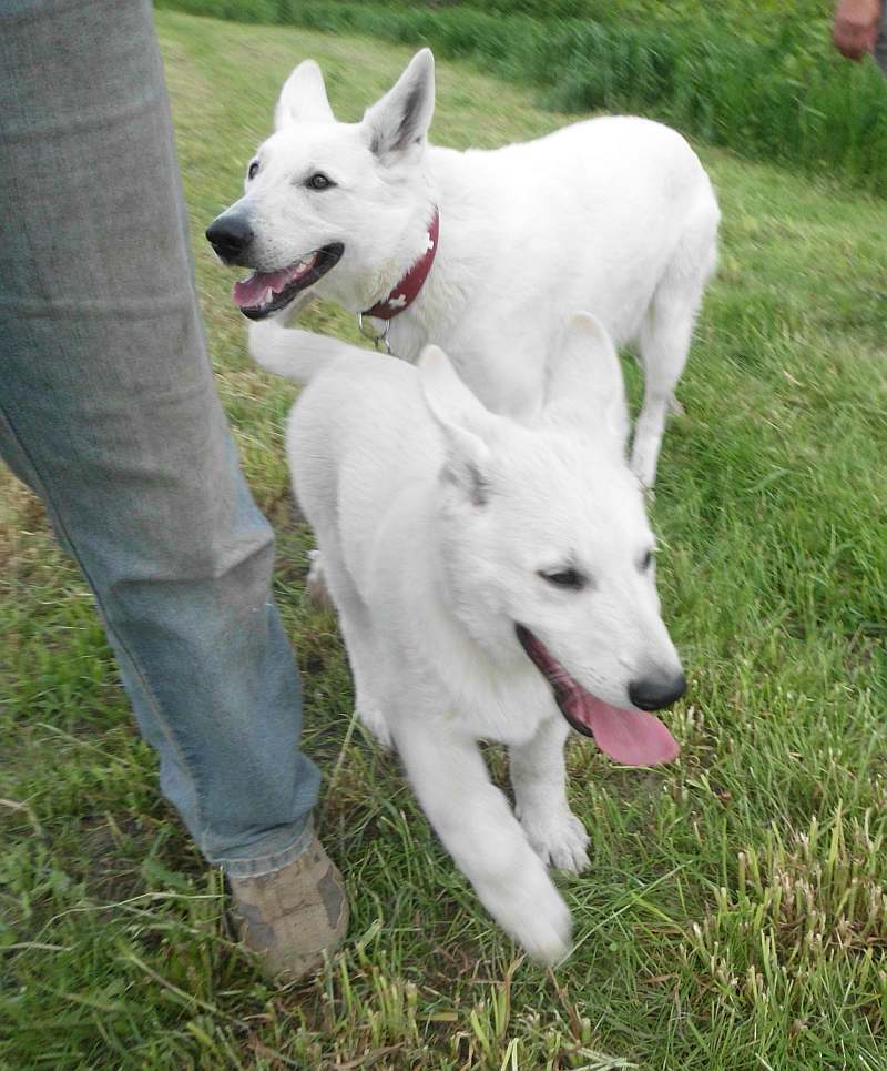
[[[438,346],[419,357],[419,387],[447,444],[443,475],[461,487],[476,506],[489,495],[490,449],[486,442],[496,417],[481,405]]]

